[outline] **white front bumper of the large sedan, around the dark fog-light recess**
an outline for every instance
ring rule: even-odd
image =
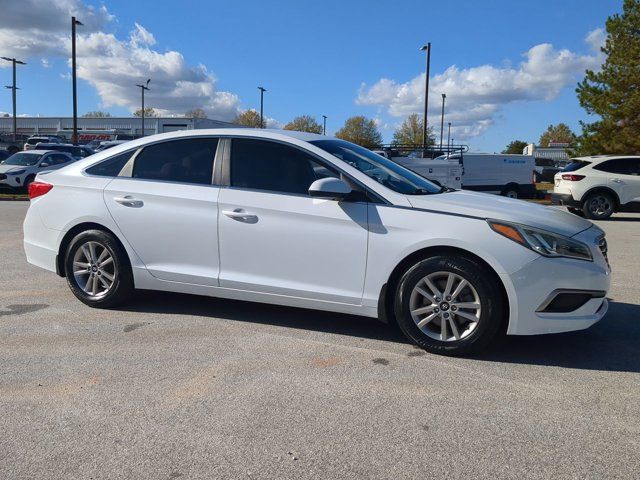
[[[512,274],[501,275],[509,295],[507,334],[538,335],[583,330],[605,316],[611,269],[598,248],[595,228],[574,237],[591,245],[592,262],[540,257]],[[591,292],[593,295],[572,311],[546,308],[556,292],[567,291]]]

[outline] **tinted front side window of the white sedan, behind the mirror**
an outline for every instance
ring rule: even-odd
[[[320,178],[338,177],[302,150],[249,138],[233,140],[230,170],[232,187],[298,195]]]

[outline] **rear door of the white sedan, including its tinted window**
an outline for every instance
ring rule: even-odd
[[[190,138],[146,146],[125,167],[129,177],[115,178],[104,190],[116,224],[159,279],[218,285],[217,144]]]

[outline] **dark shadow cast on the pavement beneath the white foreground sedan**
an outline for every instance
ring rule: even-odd
[[[373,318],[238,300],[144,291],[139,292],[135,300],[122,310],[215,317],[410,345],[398,329]],[[640,305],[611,302],[607,316],[588,330],[507,337],[489,352],[472,358],[491,362],[640,372]]]

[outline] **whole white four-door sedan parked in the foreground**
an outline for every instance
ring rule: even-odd
[[[155,135],[41,174],[30,196],[28,261],[92,307],[151,289],[314,308],[395,322],[443,354],[607,311],[591,222],[439,187],[320,135]]]

